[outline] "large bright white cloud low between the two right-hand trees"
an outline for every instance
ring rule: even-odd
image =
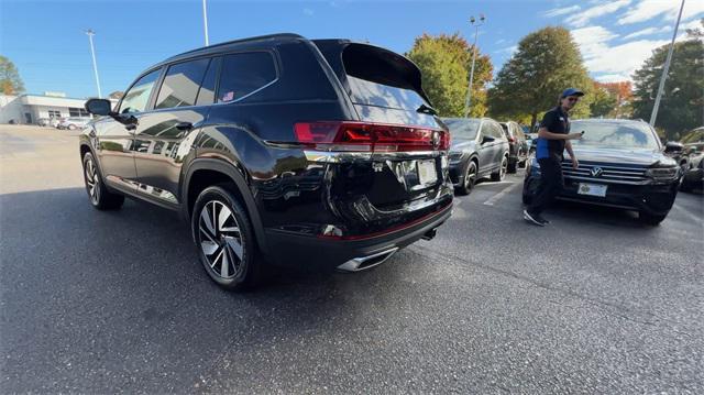
[[[590,26],[572,31],[580,46],[584,65],[600,80],[630,79],[631,74],[652,55],[652,50],[667,44],[668,40],[638,40],[610,46],[618,35],[602,26]]]

